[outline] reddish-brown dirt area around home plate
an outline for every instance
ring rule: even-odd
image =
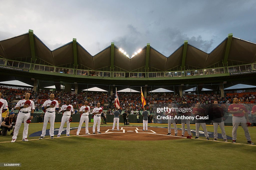
[[[115,126],[116,128],[116,126]],[[90,135],[85,135],[85,128],[82,128],[79,135],[81,137],[95,138],[95,139],[109,139],[109,140],[176,140],[184,139],[181,136],[181,130],[178,130],[178,136],[175,136],[174,129],[172,128],[172,135],[167,135],[168,129],[162,127],[148,127],[148,131],[142,131],[141,126],[119,126],[120,131],[114,129],[112,126],[101,126],[101,134],[97,134],[97,126],[95,135],[92,134],[92,127],[89,127]],[[77,129],[71,130],[70,134],[76,135]],[[185,133],[185,136],[188,136]]]

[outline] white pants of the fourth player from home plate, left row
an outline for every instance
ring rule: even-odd
[[[44,125],[43,125],[43,129],[42,129],[42,134],[41,134],[41,136],[43,136],[43,137],[45,137],[46,127],[47,127],[47,123],[49,120],[50,120],[50,136],[54,136],[55,112],[49,113],[46,111],[45,117],[44,117]]]

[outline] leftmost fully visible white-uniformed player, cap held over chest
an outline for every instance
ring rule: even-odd
[[[16,141],[18,133],[19,133],[19,128],[24,122],[24,130],[23,130],[23,138],[22,141],[27,142],[27,136],[28,136],[28,125],[29,121],[33,119],[34,115],[34,110],[35,110],[35,103],[32,100],[29,100],[30,93],[27,92],[25,93],[25,99],[22,99],[18,101],[18,103],[15,106],[16,110],[19,110],[19,114],[17,116],[16,124],[15,124],[15,129],[13,133],[13,140],[11,141],[12,143]]]

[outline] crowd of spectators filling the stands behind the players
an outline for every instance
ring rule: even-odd
[[[6,99],[10,107],[15,107],[16,102],[23,98],[23,95],[26,91],[31,93],[31,100],[35,102],[36,111],[41,109],[41,105],[45,100],[49,99],[51,93],[55,94],[55,99],[58,100],[59,106],[65,103],[67,100],[70,100],[70,104],[73,105],[73,108],[78,110],[83,104],[84,101],[88,101],[88,105],[93,109],[96,106],[97,102],[101,103],[101,106],[104,109],[108,109],[108,113],[112,114],[114,109],[113,103],[115,94],[110,95],[108,92],[92,92],[92,91],[80,91],[78,94],[75,94],[74,91],[65,92],[65,91],[52,91],[47,89],[40,89],[35,93],[33,89],[9,89],[1,88],[0,90],[3,93],[2,98]],[[165,104],[165,103],[213,103],[214,100],[217,100],[219,103],[232,103],[232,98],[237,97],[240,103],[255,103],[256,92],[254,93],[236,93],[236,94],[226,94],[226,97],[221,97],[217,92],[204,93],[204,94],[183,94],[179,96],[174,93],[148,93],[146,99],[146,109],[153,109],[152,104]],[[143,110],[141,102],[140,93],[118,93],[120,101],[120,109],[127,110],[130,112],[134,111],[136,114],[138,111]],[[13,102],[16,101],[16,102]],[[13,103],[12,103],[13,102]]]

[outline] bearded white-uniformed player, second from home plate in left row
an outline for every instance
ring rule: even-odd
[[[90,135],[88,130],[89,124],[89,113],[90,113],[90,106],[87,105],[88,101],[84,102],[84,105],[80,108],[79,113],[81,114],[79,126],[77,129],[77,135],[79,135],[83,122],[85,122],[85,134]]]

